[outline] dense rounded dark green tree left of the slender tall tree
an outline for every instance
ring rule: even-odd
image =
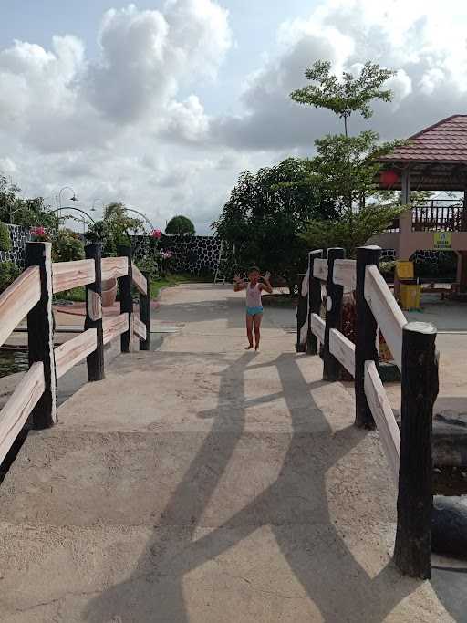
[[[255,174],[244,171],[212,226],[234,245],[238,269],[260,265],[284,277],[292,290],[306,265],[306,244],[297,234],[309,219],[337,214],[334,202],[313,183],[310,161],[288,158]]]

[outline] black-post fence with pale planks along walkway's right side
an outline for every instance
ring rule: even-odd
[[[398,486],[394,560],[402,573],[431,576],[431,420],[438,394],[436,329],[407,323],[379,273],[381,249],[360,247],[357,260],[344,250],[312,251],[297,310],[297,351],[323,358],[323,379],[335,381],[346,369],[354,378],[358,427],[378,428]],[[320,317],[326,282],[326,320]],[[341,332],[344,287],[355,293],[355,344]],[[379,378],[379,330],[401,372],[398,427]]]

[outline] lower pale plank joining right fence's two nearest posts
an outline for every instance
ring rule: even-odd
[[[365,362],[365,394],[394,483],[399,482],[400,431],[374,361]]]

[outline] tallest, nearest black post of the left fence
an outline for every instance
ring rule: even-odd
[[[54,317],[52,313],[52,244],[27,243],[26,267],[38,266],[40,300],[27,314],[29,367],[42,361],[45,389],[31,416],[36,429],[57,423],[57,375],[54,355]]]

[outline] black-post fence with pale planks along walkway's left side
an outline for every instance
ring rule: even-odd
[[[150,292],[145,275],[131,262],[131,251],[101,258],[99,244],[85,247],[78,262],[52,263],[50,243],[26,244],[26,270],[0,296],[0,346],[27,317],[29,370],[0,411],[0,462],[31,416],[35,428],[57,423],[57,379],[87,358],[88,380],[104,379],[104,345],[120,336],[122,352],[150,348]],[[102,316],[101,282],[119,279],[120,314]],[[131,286],[140,292],[140,317],[133,313]],[[86,286],[84,332],[54,348],[52,296]]]

